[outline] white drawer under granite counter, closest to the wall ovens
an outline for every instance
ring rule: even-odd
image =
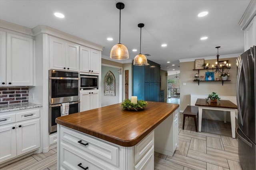
[[[40,116],[39,109],[29,109],[22,112],[16,113],[16,121],[24,121],[29,119],[34,119]]]

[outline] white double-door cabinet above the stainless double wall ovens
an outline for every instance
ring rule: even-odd
[[[50,69],[79,71],[79,46],[49,37]]]

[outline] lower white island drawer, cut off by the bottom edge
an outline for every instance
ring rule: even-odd
[[[66,144],[61,144],[60,150],[62,150],[62,155],[60,155],[60,166],[61,166],[60,169],[82,170],[83,168],[87,168],[87,167],[88,167],[88,170],[104,169],[104,168],[100,168],[99,164],[95,164],[93,160],[91,161],[89,158],[89,155],[80,153],[78,150],[74,149],[73,147],[69,147]]]

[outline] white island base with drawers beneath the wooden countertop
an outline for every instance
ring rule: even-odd
[[[154,170],[154,131],[133,147],[122,147],[58,125],[57,169]]]

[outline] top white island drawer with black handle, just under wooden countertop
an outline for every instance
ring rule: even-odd
[[[60,133],[63,137],[63,141],[74,145],[79,150],[84,150],[96,158],[100,158],[115,166],[119,166],[119,147],[110,145],[84,133],[70,130],[66,127],[60,128]]]

